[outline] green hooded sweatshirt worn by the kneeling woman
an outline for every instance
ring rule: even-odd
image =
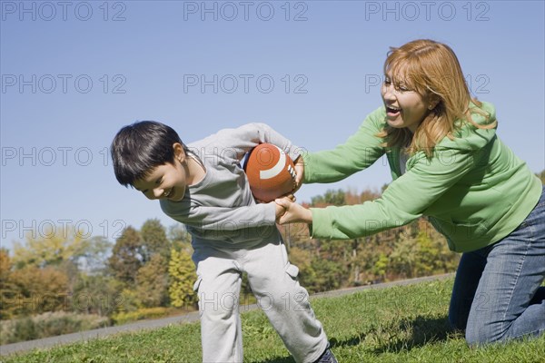
[[[475,123],[495,121],[482,103]],[[313,238],[353,239],[400,227],[422,215],[458,252],[478,250],[514,231],[540,199],[542,185],[525,162],[496,135],[463,123],[451,140],[439,142],[431,158],[416,152],[401,175],[400,148],[385,148],[376,134],[386,125],[381,107],[345,143],[331,151],[304,153],[304,182],[337,182],[362,171],[386,153],[393,182],[381,198],[362,204],[311,208]]]

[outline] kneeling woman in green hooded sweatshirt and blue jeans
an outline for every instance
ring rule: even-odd
[[[360,205],[305,209],[284,198],[281,224],[310,223],[313,238],[353,239],[421,216],[462,252],[449,319],[470,344],[545,331],[545,195],[496,135],[495,110],[471,98],[451,48],[416,40],[391,48],[384,105],[331,151],[306,153],[301,182],[337,182],[384,153],[393,181]]]

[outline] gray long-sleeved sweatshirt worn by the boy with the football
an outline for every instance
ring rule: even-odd
[[[274,201],[255,203],[241,166],[245,153],[263,142],[278,146],[292,160],[301,153],[264,123],[223,129],[187,144],[193,157],[203,163],[204,178],[188,186],[182,201],[161,200],[161,208],[185,225],[193,237],[193,245],[207,243],[219,248],[246,249],[280,239]]]

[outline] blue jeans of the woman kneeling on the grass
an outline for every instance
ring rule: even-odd
[[[461,255],[449,320],[470,345],[545,332],[545,188],[517,230]]]

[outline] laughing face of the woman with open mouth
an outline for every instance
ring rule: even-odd
[[[406,127],[414,133],[430,112],[429,102],[420,93],[409,89],[403,83],[394,86],[391,74],[384,77],[381,95],[386,107],[386,120],[396,129]]]

